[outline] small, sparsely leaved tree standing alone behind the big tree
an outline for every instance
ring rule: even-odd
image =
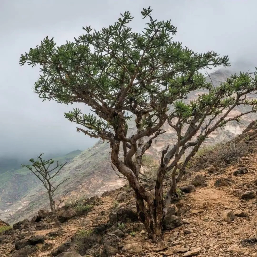
[[[43,153],[41,153],[38,156],[37,160],[34,160],[33,158],[30,159],[32,166],[22,164],[22,167],[27,167],[43,183],[44,187],[47,189],[48,192],[51,211],[53,211],[56,206],[55,201],[53,199],[54,192],[62,183],[64,183],[70,178],[63,180],[56,186],[53,186],[50,180],[53,179],[59,173],[59,171],[63,168],[63,166],[65,166],[67,162],[64,164],[59,164],[59,162],[57,161],[56,167],[53,167],[52,164],[54,163],[54,160],[50,159],[46,161],[42,159],[42,156]],[[64,199],[65,196],[63,197],[63,200],[60,201],[60,203],[62,203]]]

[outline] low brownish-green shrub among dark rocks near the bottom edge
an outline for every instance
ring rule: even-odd
[[[76,250],[84,255],[86,251],[98,243],[97,235],[93,230],[80,230],[75,236]]]

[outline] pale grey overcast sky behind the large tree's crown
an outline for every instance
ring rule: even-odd
[[[257,66],[255,0],[0,0],[0,156],[69,152],[94,144],[64,118],[74,106],[42,103],[33,93],[39,72],[20,67],[20,54],[47,35],[62,44],[83,33],[82,26],[100,30],[128,10],[140,31],[141,10],[149,5],[155,19],[171,19],[178,27],[175,40],[183,45],[228,55],[244,70]]]

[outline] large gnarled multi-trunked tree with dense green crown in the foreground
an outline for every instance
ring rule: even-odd
[[[21,55],[20,64],[41,66],[34,92],[43,101],[54,99],[91,107],[92,114],[74,108],[65,117],[79,125],[78,132],[108,140],[112,164],[134,190],[140,220],[149,237],[159,241],[177,182],[201,143],[215,129],[255,112],[256,101],[246,96],[256,90],[257,77],[256,73],[253,77],[240,73],[214,87],[201,71],[230,66],[228,56],[219,57],[214,51],[195,53],[183,47],[172,38],[177,28],[170,21],[154,20],[151,12],[150,7],[141,12],[143,19],[148,19],[141,33],[128,26],[133,17],[125,12],[114,25],[101,31],[83,27],[85,34],[75,42],[57,47],[53,38],[46,37]],[[188,93],[197,89],[205,91],[194,101],[186,102]],[[251,105],[252,109],[228,116],[239,104]],[[133,117],[136,132],[129,136],[128,122]],[[142,156],[152,141],[165,132],[162,126],[166,122],[176,131],[177,142],[162,151],[152,195],[140,184],[139,171]],[[179,168],[179,160],[188,151]],[[164,199],[163,179],[167,172],[172,173],[172,183]]]

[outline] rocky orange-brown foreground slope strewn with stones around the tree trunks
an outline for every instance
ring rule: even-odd
[[[93,209],[82,215],[60,208],[14,224],[0,235],[1,256],[257,256],[257,130],[234,142],[245,149],[235,158],[221,162],[212,151],[192,160],[179,186],[194,192],[170,205],[158,244],[148,239],[124,185],[85,200]],[[153,182],[143,183],[152,190]]]

